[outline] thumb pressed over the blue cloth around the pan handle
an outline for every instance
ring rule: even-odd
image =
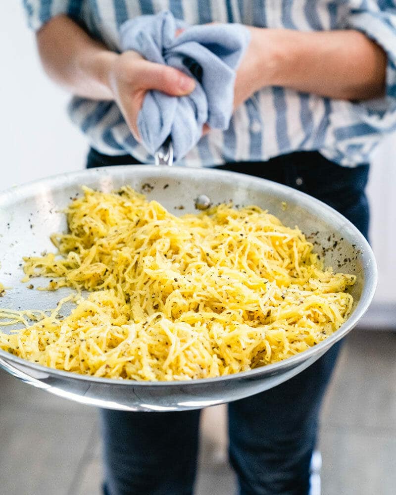
[[[146,62],[141,70],[143,89],[158,90],[170,96],[185,96],[194,91],[195,80],[173,67]]]

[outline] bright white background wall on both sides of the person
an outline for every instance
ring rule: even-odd
[[[1,47],[0,190],[83,168],[87,145],[69,122],[68,97],[40,68],[34,35],[26,28],[21,1],[3,1]],[[379,265],[377,306],[396,308],[396,139],[376,153],[369,187],[371,240]],[[384,312],[380,311],[380,320]],[[381,323],[381,322],[380,322]]]

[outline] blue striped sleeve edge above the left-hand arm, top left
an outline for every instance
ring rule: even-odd
[[[66,14],[78,19],[83,0],[23,0],[28,26],[38,31],[52,17]]]

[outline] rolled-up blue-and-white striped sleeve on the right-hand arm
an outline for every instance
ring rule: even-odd
[[[353,8],[346,28],[356,29],[375,41],[387,54],[386,95],[356,103],[364,121],[377,131],[396,129],[396,0],[363,0]]]

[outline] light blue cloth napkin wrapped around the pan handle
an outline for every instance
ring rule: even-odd
[[[176,37],[176,30],[184,29]],[[205,122],[229,127],[236,69],[250,40],[240,24],[189,26],[171,12],[131,19],[120,28],[121,49],[135,50],[151,62],[175,67],[197,80],[189,96],[149,91],[138,116],[142,144],[151,154],[170,136],[174,160],[198,143]]]

